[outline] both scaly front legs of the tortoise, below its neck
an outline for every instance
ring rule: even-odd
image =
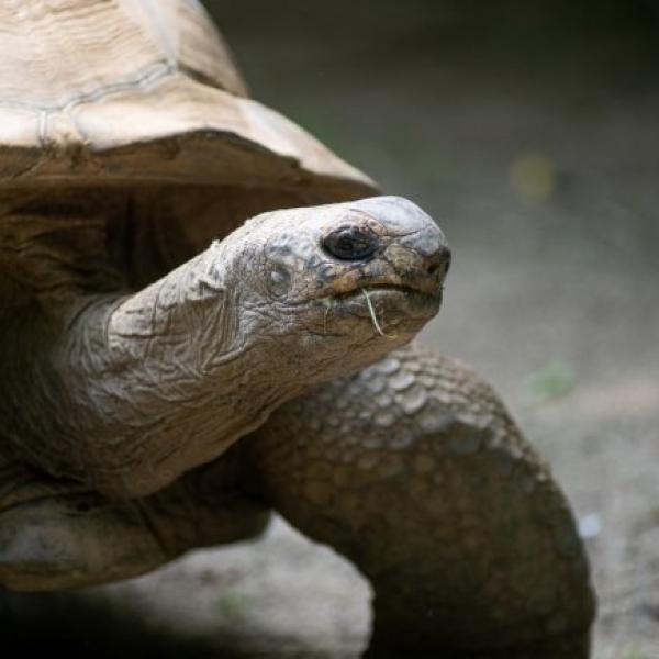
[[[492,390],[416,347],[289,402],[152,496],[5,480],[38,493],[0,514],[10,588],[125,579],[257,535],[272,506],[370,579],[369,657],[589,656],[594,600],[563,495]]]

